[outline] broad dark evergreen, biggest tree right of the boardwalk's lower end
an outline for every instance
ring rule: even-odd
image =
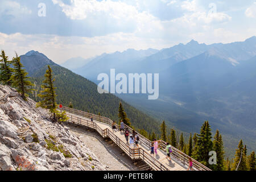
[[[209,165],[209,152],[212,151],[212,133],[210,132],[210,125],[208,121],[205,121],[201,127],[200,134],[198,135],[195,149],[193,150],[193,158],[207,167]]]

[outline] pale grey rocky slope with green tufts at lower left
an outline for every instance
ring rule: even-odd
[[[0,85],[0,171],[106,170],[84,142],[35,104]]]

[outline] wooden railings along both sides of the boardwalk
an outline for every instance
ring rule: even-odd
[[[150,167],[152,167],[155,170],[161,170],[161,171],[168,170],[168,168],[166,166],[164,166],[157,159],[155,159],[150,154],[148,154],[148,152],[144,151],[143,148],[136,149],[136,148],[129,147],[125,142],[123,142],[116,135],[114,135],[112,133],[112,131],[110,131],[109,129],[102,130],[97,125],[97,123],[90,121],[90,118],[92,117],[93,121],[103,122],[106,125],[112,126],[113,121],[111,119],[102,117],[101,115],[86,113],[85,111],[72,109],[72,108],[65,107],[65,106],[63,106],[61,108],[61,110],[67,111],[68,113],[72,113],[72,114],[76,114],[76,115],[80,115],[82,117],[88,118],[88,119],[83,119],[83,118],[75,117],[71,114],[67,114],[69,117],[69,121],[78,123],[79,125],[84,125],[84,126],[93,128],[94,130],[97,130],[98,133],[100,133],[102,137],[109,137],[110,139],[112,139],[113,142],[115,142],[120,148],[122,148],[123,151],[125,151],[125,153],[127,155],[130,156],[130,158],[132,158],[132,159],[141,158],[142,160],[144,160],[144,162],[146,162]],[[117,124],[115,124],[115,125],[116,125],[117,129],[119,130],[118,125]],[[131,129],[131,127],[125,125],[125,129],[128,129],[130,133],[133,133],[133,129]],[[141,146],[148,148],[148,150],[150,150],[151,143],[152,143],[151,140],[145,138],[143,135],[141,135],[139,133],[138,133],[138,135],[139,135],[139,142],[140,142]],[[158,140],[158,142],[159,142],[159,149],[164,151],[164,149],[166,148],[166,142],[164,142],[163,140]],[[172,146],[171,156],[174,157],[175,159],[177,159],[177,161],[180,162],[180,164],[183,164],[184,166],[188,165],[188,163],[189,163],[189,156],[187,154],[184,154],[184,152],[181,152],[180,150],[178,150],[177,148],[175,148],[173,146]],[[193,169],[195,169],[195,170],[211,171],[208,167],[204,166],[200,162],[197,162],[197,160],[195,160],[195,159],[192,159],[192,162],[193,162]]]

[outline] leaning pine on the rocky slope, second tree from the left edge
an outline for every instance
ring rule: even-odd
[[[30,81],[28,81],[27,77],[28,73],[23,68],[22,63],[20,63],[20,57],[18,57],[16,53],[16,57],[13,58],[13,75],[11,76],[11,80],[13,81],[14,88],[22,95],[22,98],[26,100],[27,93],[32,92],[31,86],[34,86]]]

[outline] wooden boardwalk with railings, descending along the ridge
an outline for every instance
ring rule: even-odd
[[[119,146],[131,159],[141,159],[148,164],[154,170],[162,171],[184,171],[188,168],[188,156],[183,152],[172,147],[171,161],[166,158],[165,152],[161,148],[165,148],[165,143],[160,140],[158,155],[150,154],[151,141],[139,135],[139,148],[129,146],[126,143],[125,135],[121,131],[113,131],[112,123],[109,118],[101,117],[84,111],[71,109],[68,107],[62,107],[61,110],[65,110],[69,117],[69,122],[77,123],[77,125],[87,126],[96,130],[102,137],[110,138],[117,146]],[[90,118],[93,118],[93,122]],[[131,133],[131,128],[126,126]],[[118,127],[117,127],[118,128]],[[193,170],[210,170],[203,164],[193,160]]]

